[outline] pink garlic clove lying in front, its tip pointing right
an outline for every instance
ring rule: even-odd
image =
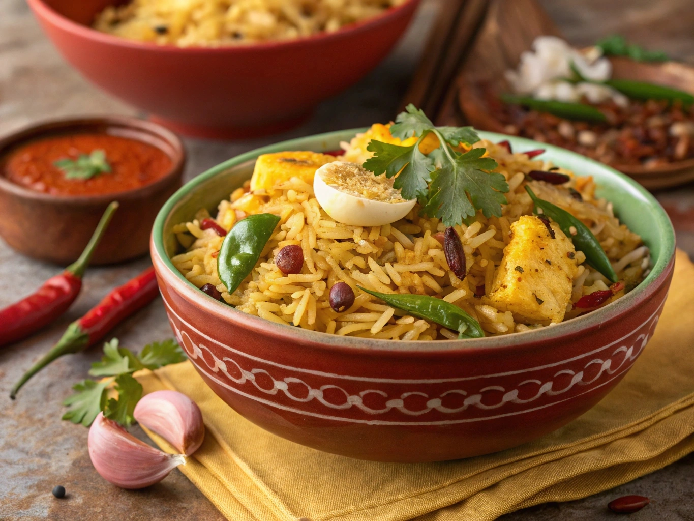
[[[113,420],[96,416],[87,439],[96,472],[121,488],[144,488],[185,464],[185,456],[166,454],[138,440]]]

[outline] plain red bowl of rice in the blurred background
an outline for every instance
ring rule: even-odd
[[[46,34],[90,81],[180,133],[248,138],[301,122],[356,83],[403,34],[419,0],[335,33],[243,47],[182,49],[88,25],[114,0],[28,0]]]

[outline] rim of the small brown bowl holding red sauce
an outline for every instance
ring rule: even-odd
[[[137,117],[128,116],[85,116],[74,119],[49,119],[38,124],[26,126],[0,139],[0,161],[10,149],[21,145],[42,136],[49,137],[58,133],[69,133],[70,129],[89,129],[90,126],[95,128],[118,127],[121,129],[130,129],[141,134],[153,135],[160,140],[169,144],[170,150],[164,150],[155,143],[149,143],[160,149],[164,154],[171,158],[171,167],[169,171],[157,179],[153,183],[140,186],[132,190],[124,190],[123,192],[114,192],[105,195],[53,195],[45,192],[37,192],[31,188],[25,188],[22,185],[12,183],[5,178],[0,172],[0,190],[10,193],[15,197],[22,199],[38,200],[43,202],[52,202],[55,204],[64,204],[69,206],[93,206],[100,204],[108,204],[110,201],[119,200],[125,201],[128,199],[140,199],[159,188],[171,183],[171,179],[179,176],[183,172],[185,165],[186,154],[183,143],[178,136],[173,132],[165,129],[163,126],[154,122],[139,119]],[[133,139],[137,139],[136,137]]]

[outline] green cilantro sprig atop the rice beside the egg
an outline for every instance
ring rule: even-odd
[[[418,139],[409,147],[371,140],[366,150],[374,154],[363,166],[377,176],[397,175],[393,188],[405,199],[418,199],[424,213],[438,217],[446,226],[468,220],[477,210],[486,217],[502,215],[509,185],[502,174],[491,172],[496,161],[483,158],[483,148],[464,154],[455,150],[460,143],[470,146],[480,140],[471,126],[435,126],[422,110],[409,104],[390,132],[400,140]],[[419,145],[429,134],[438,138],[439,147],[423,154]]]

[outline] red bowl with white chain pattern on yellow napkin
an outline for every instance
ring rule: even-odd
[[[632,367],[663,308],[675,235],[641,186],[573,152],[545,159],[592,175],[599,195],[640,233],[654,265],[638,288],[556,326],[494,338],[397,342],[305,331],[246,315],[208,297],[177,272],[171,227],[214,210],[259,154],[337,149],[355,131],[248,152],[179,190],[155,221],[151,253],[169,321],[196,370],[237,412],[264,429],[326,452],[377,461],[439,461],[487,454],[539,438],[600,402]],[[648,219],[643,218],[648,215]],[[636,405],[636,404],[635,404]]]

